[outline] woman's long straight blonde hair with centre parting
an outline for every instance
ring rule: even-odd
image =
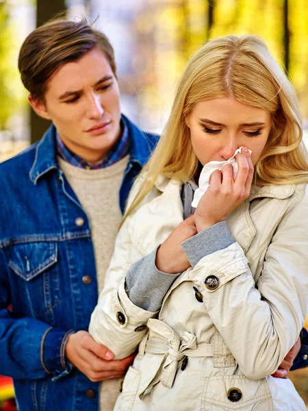
[[[153,188],[159,175],[188,182],[198,168],[185,116],[200,101],[233,97],[272,114],[272,129],[255,166],[255,184],[308,182],[307,153],[294,87],[265,43],[256,36],[209,40],[190,60],[179,80],[175,101],[151,159],[146,178],[127,215]]]

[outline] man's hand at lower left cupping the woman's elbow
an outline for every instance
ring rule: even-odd
[[[122,377],[135,358],[132,354],[123,360],[112,360],[112,351],[94,341],[86,331],[68,336],[65,356],[92,382]]]

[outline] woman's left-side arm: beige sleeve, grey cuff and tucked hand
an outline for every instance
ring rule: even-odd
[[[166,240],[168,245],[172,243],[172,261],[177,262],[174,274],[170,274],[169,271],[166,273],[157,269],[157,249],[133,262],[136,258],[132,257],[134,247],[130,225],[128,218],[118,233],[105,286],[89,327],[94,340],[108,347],[116,359],[125,358],[136,350],[146,334],[148,319],[157,315],[162,299],[177,275],[190,266],[181,242],[196,234],[191,217],[183,221]]]

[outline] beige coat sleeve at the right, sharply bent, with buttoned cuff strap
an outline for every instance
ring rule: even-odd
[[[305,321],[307,199],[306,189],[305,197],[281,220],[257,284],[237,243],[201,258],[190,273],[203,289],[211,320],[251,379],[277,370]]]

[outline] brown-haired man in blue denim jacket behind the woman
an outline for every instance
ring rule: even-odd
[[[86,22],[34,30],[18,65],[31,107],[53,125],[0,166],[0,370],[21,411],[112,410],[132,358],[112,360],[87,330],[157,136],[120,115],[112,47]]]

